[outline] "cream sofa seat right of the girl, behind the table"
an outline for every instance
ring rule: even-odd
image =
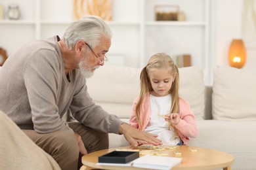
[[[256,136],[249,135],[256,131],[255,121],[199,120],[197,123],[198,136],[188,142],[189,146],[212,148],[232,154],[233,170],[255,169]]]

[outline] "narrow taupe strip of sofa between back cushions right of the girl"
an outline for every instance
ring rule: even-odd
[[[212,86],[205,86],[205,109],[204,109],[204,119],[211,120],[213,118],[211,114],[211,95],[213,93]]]

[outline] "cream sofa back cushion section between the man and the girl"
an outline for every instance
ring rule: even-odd
[[[134,99],[140,93],[140,69],[108,66],[96,69],[87,79],[95,103],[119,118],[130,118]]]

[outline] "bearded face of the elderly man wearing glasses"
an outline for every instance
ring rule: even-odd
[[[110,48],[111,40],[102,37],[99,45],[95,46],[95,48],[91,48],[91,46],[86,43],[87,42],[85,42],[85,49],[87,50],[84,51],[83,57],[79,61],[79,69],[85,78],[89,78],[93,76],[95,69],[104,65],[105,54]]]

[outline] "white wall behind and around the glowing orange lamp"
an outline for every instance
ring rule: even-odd
[[[244,0],[211,1],[211,70],[216,65],[229,65],[230,42],[232,39],[243,39],[243,3]],[[245,47],[247,48],[247,61],[242,69],[256,70],[256,43],[245,41]]]

